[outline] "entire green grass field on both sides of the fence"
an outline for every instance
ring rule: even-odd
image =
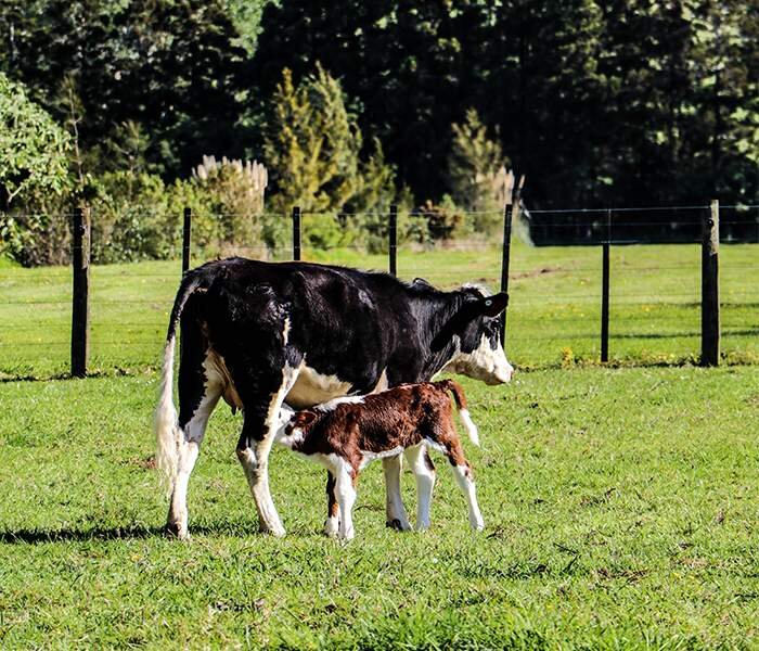
[[[385,529],[370,467],[349,545],[319,533],[322,472],[283,450],[288,536],[256,534],[241,421],[221,408],[191,482],[193,540],[162,536],[151,413],[177,263],[93,268],[101,376],[44,382],[21,379],[68,368],[70,272],[0,265],[0,647],[759,647],[756,252],[722,247],[732,363],[700,369],[698,248],[613,248],[609,368],[600,251],[515,246],[507,352],[523,372],[465,382],[486,531],[468,529],[441,460],[433,528]],[[399,254],[403,278],[447,288],[497,286],[499,265],[496,247]]]

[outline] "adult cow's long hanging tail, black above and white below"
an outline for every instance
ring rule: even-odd
[[[164,366],[160,373],[160,388],[158,393],[158,406],[155,409],[153,425],[155,429],[155,462],[160,471],[160,478],[167,493],[173,487],[179,465],[179,444],[181,432],[177,418],[177,409],[173,406],[173,353],[177,343],[177,324],[182,316],[182,309],[190,295],[201,284],[197,272],[191,271],[182,280],[177,292],[177,298],[171,309],[169,329],[166,334],[164,347]]]

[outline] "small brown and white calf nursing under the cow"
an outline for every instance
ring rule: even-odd
[[[453,424],[448,392],[453,394],[466,433],[479,445],[466,397],[453,380],[401,384],[378,394],[337,398],[313,409],[282,413],[276,442],[313,459],[330,472],[330,511],[324,533],[353,537],[351,511],[360,471],[374,459],[401,454],[416,476],[416,528],[427,528],[435,469],[427,463],[426,448],[448,457],[468,502],[469,524],[476,531],[484,528],[472,468]]]

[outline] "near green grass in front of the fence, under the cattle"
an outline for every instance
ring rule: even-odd
[[[1,648],[759,644],[759,367],[466,381],[486,531],[442,460],[432,529],[386,529],[370,465],[347,545],[319,533],[323,473],[285,450],[271,482],[288,535],[256,533],[227,408],[191,481],[193,539],[165,539],[156,384],[0,383]]]

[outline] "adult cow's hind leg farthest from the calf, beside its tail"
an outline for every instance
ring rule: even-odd
[[[204,365],[205,367],[205,365]],[[180,369],[180,378],[181,369]],[[180,381],[180,412],[177,468],[171,489],[171,502],[166,532],[178,538],[188,538],[188,484],[195,467],[206,425],[221,396],[218,375],[205,368],[203,373],[184,375]]]

